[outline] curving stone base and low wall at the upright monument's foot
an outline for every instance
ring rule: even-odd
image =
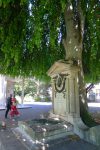
[[[50,116],[58,117],[70,122],[73,124],[74,134],[77,134],[81,139],[89,143],[100,146],[100,125],[89,128],[83,123],[80,117],[72,115],[55,115],[53,113],[51,113]]]

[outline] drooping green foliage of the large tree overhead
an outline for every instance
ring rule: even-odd
[[[46,78],[49,67],[65,59],[64,10],[69,0],[0,1],[0,73]],[[100,80],[99,0],[70,0],[85,17],[82,61],[86,80]]]

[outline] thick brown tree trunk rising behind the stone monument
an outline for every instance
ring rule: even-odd
[[[72,4],[69,3],[65,9],[65,24],[66,24],[66,39],[63,44],[66,50],[66,60],[73,61],[74,65],[79,66],[78,86],[79,86],[79,100],[80,100],[80,116],[83,120],[84,115],[87,114],[87,98],[86,89],[84,84],[84,74],[82,68],[82,42],[83,42],[83,29],[84,17],[80,6],[77,5],[77,13],[75,14]]]

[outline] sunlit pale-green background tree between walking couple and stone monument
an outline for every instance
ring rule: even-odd
[[[22,103],[27,94],[32,96],[33,99],[41,100],[43,96],[45,101],[50,101],[49,89],[50,84],[46,82],[41,82],[35,78],[22,78],[15,83],[14,94],[21,96]]]

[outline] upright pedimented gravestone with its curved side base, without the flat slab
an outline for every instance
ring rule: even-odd
[[[74,133],[82,139],[100,145],[100,126],[89,128],[80,117],[79,68],[73,61],[57,61],[48,70],[52,83],[53,110],[51,116],[62,118],[71,123]]]

